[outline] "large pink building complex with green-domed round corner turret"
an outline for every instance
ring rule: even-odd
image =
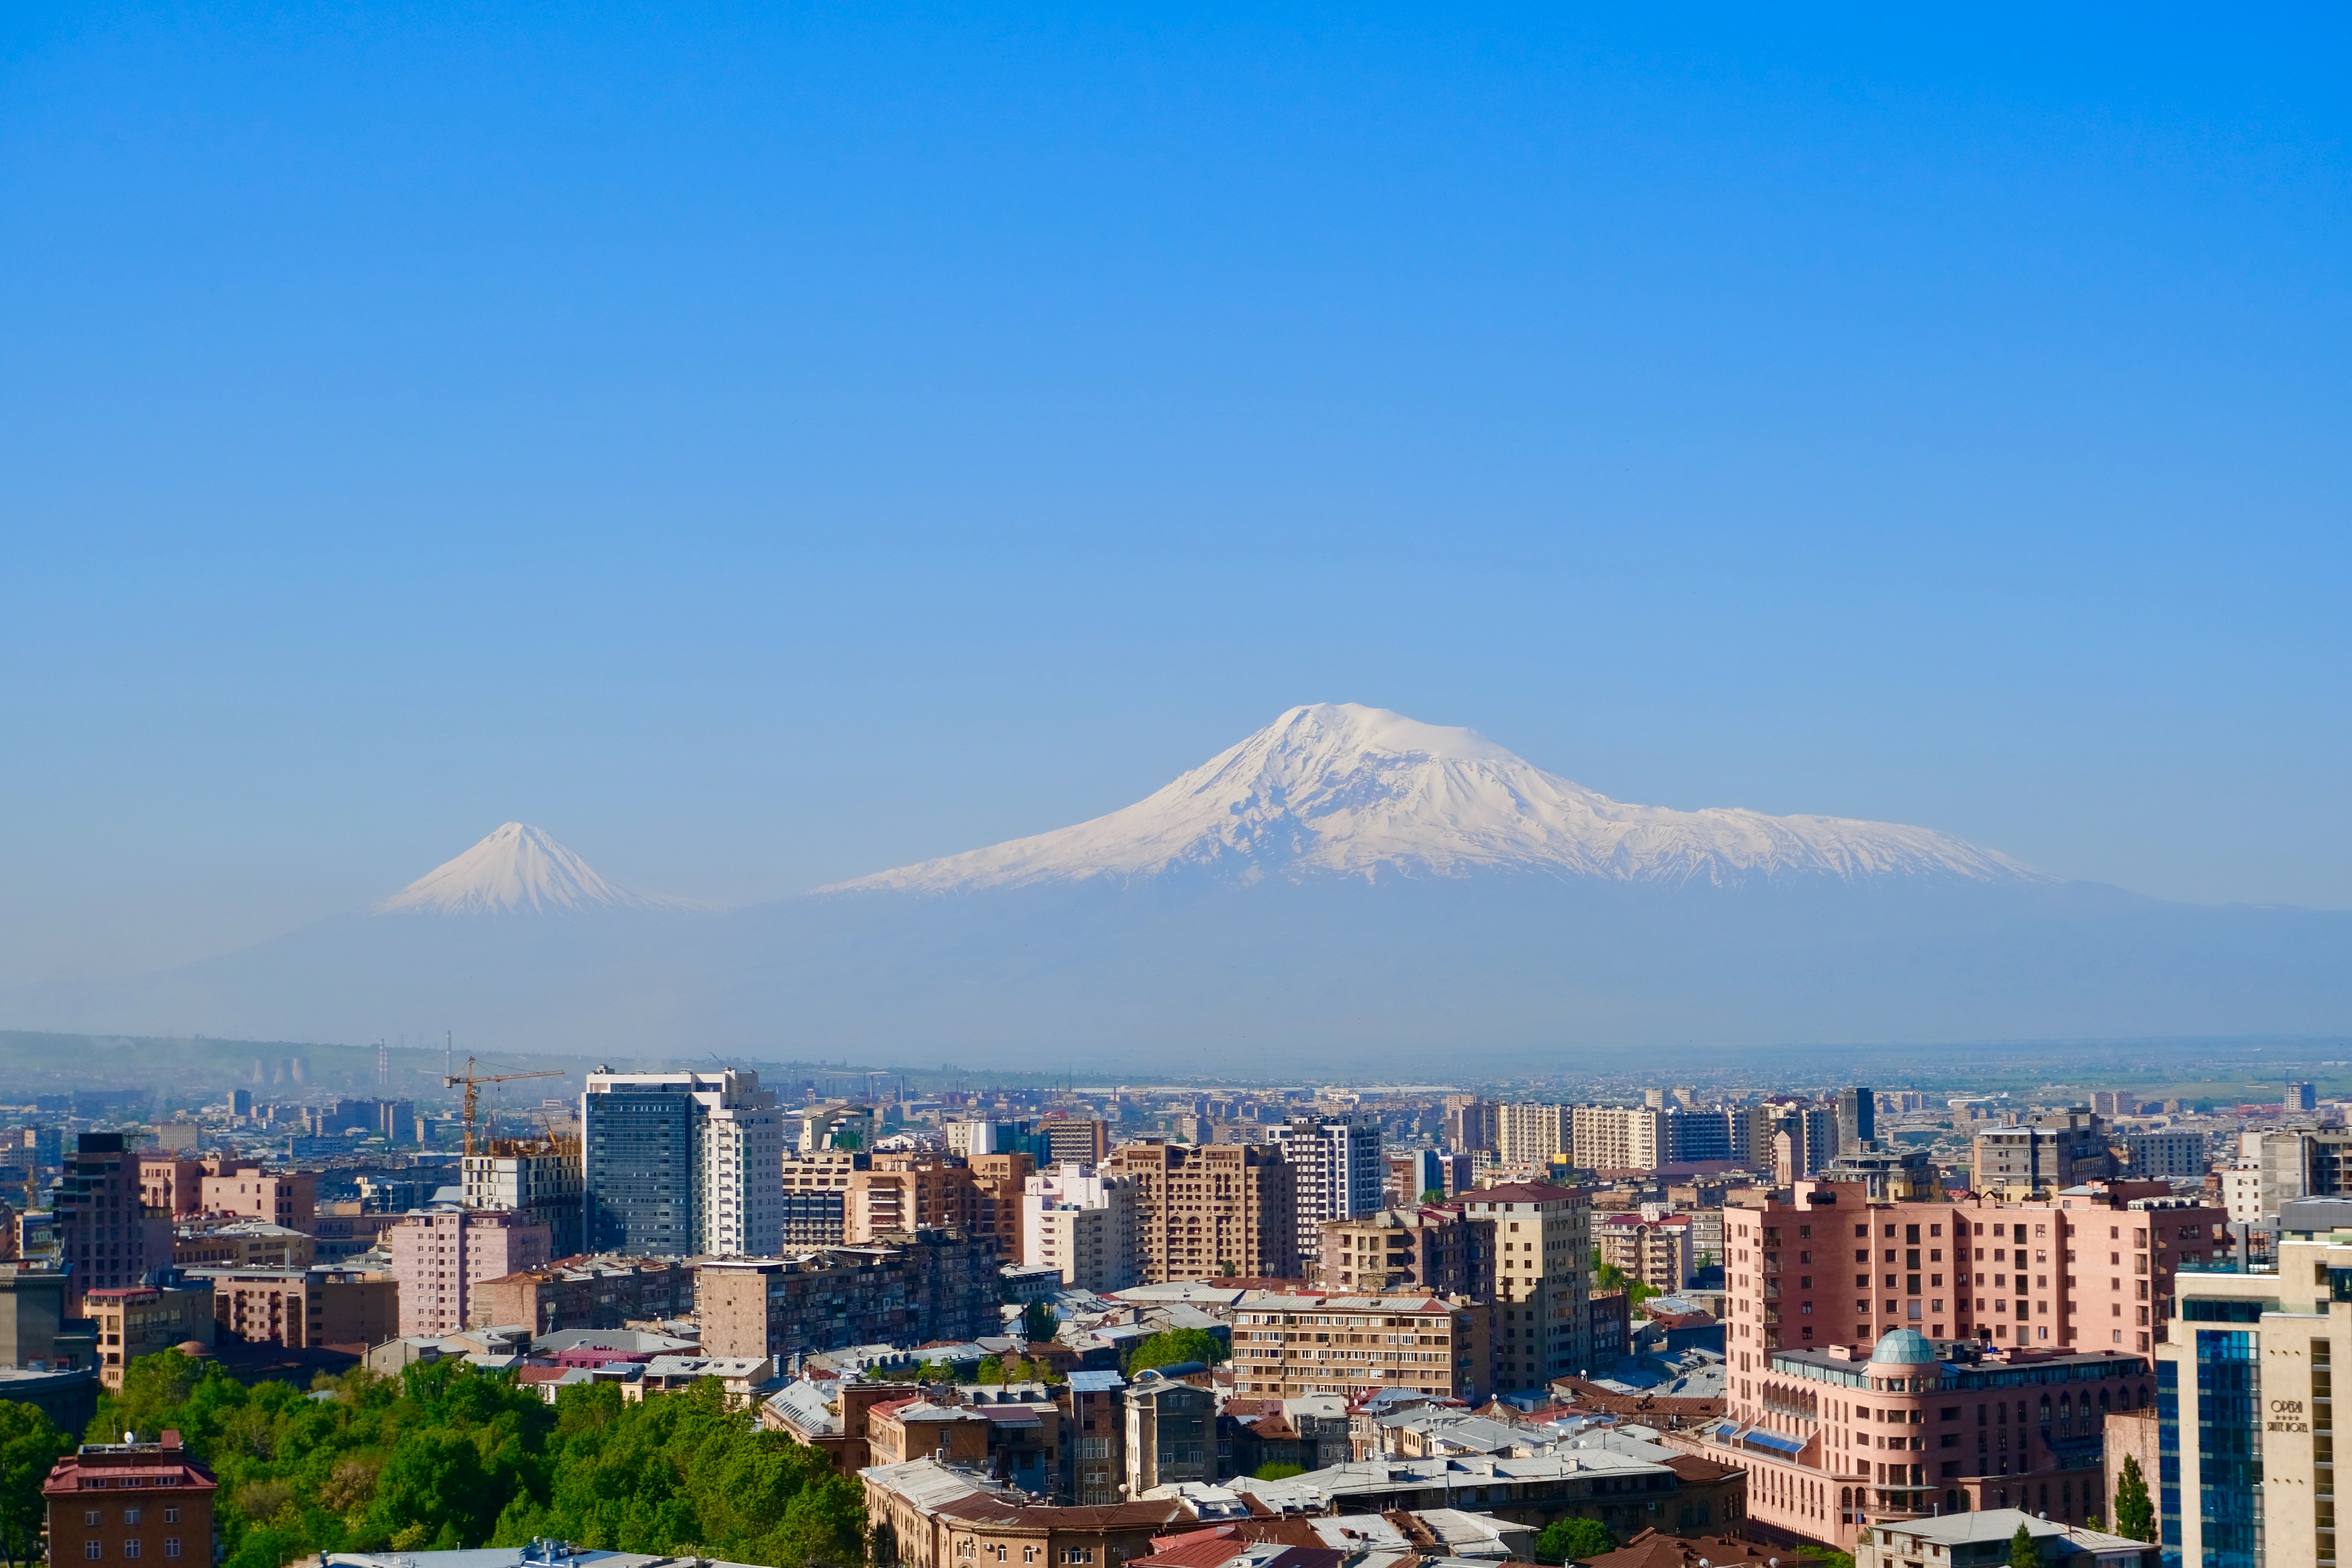
[[[1952,1204],[1809,1180],[1726,1208],[1726,1418],[1670,1441],[1745,1469],[1762,1530],[1839,1549],[1959,1509],[2082,1521],[2105,1415],[2147,1406],[2173,1276],[2227,1255],[2223,1225],[2166,1182]]]

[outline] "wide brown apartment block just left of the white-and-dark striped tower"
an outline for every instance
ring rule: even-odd
[[[1103,1173],[1136,1182],[1143,1284],[1301,1276],[1298,1166],[1279,1150],[1127,1143],[1110,1152]]]

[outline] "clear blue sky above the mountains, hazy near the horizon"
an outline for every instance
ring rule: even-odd
[[[2340,7],[849,9],[0,19],[0,978],[1305,701],[2352,905]]]

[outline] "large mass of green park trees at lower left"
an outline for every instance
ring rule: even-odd
[[[132,1361],[89,1429],[103,1441],[165,1427],[221,1483],[226,1568],[285,1568],[313,1552],[520,1547],[534,1535],[774,1568],[866,1554],[858,1486],[821,1450],[757,1432],[715,1380],[644,1401],[593,1382],[548,1406],[503,1373],[435,1361],[397,1378],[320,1378],[306,1394],[247,1387],[172,1349]],[[38,1497],[38,1479],[33,1488]]]

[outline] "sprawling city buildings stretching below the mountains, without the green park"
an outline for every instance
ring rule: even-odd
[[[1049,1535],[1105,1502],[1411,1512],[1503,1460],[1538,1500],[1519,1519],[1599,1519],[1606,1490],[1569,1479],[1604,1453],[1693,1537],[1858,1552],[2018,1509],[2105,1540],[2129,1455],[2166,1549],[2296,1530],[2331,1556],[2352,1128],[2310,1084],[2227,1112],[809,1088],[595,1070],[503,1128],[245,1091],[172,1124],[35,1119],[0,1166],[24,1199],[0,1396],[78,1425],[165,1347],[454,1354],[550,1399],[717,1378],[882,1514],[941,1530],[943,1495],[995,1497]],[[1131,1366],[1176,1331],[1216,1354]],[[2279,1408],[2258,1394],[2319,1422],[2267,1425],[2267,1490],[2213,1415]],[[2281,1467],[2310,1505],[2216,1502],[2216,1476],[2281,1495]]]

